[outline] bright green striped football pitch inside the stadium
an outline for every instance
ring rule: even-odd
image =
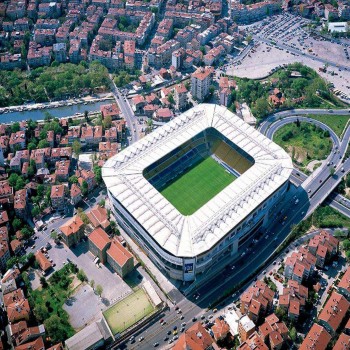
[[[191,215],[235,179],[208,157],[188,169],[161,193],[181,214]]]

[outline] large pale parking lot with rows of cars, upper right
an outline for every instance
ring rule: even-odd
[[[350,41],[337,42],[315,35],[309,32],[307,19],[292,14],[272,19],[243,27],[254,38],[254,47],[244,58],[226,65],[227,74],[259,79],[285,64],[300,62],[332,83],[340,98],[350,101]],[[327,61],[337,62],[339,67],[328,66],[320,71]]]

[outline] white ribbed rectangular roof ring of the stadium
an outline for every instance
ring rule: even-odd
[[[195,213],[182,215],[143,176],[143,170],[201,131],[213,127],[255,164]],[[289,179],[288,154],[227,108],[200,104],[110,158],[102,169],[108,190],[166,251],[194,257],[211,249]]]

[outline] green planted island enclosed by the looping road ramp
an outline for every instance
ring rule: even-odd
[[[273,140],[301,167],[306,167],[313,160],[326,159],[332,150],[328,132],[304,122],[299,126],[297,123],[283,126],[277,130]]]

